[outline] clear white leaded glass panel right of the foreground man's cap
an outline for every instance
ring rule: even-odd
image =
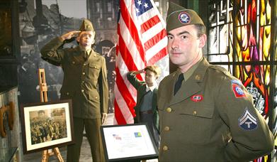
[[[210,62],[232,61],[232,9],[230,0],[217,1],[209,6],[208,60]],[[215,55],[217,57],[215,58]],[[213,56],[212,56],[213,55]],[[221,56],[223,55],[223,56]]]

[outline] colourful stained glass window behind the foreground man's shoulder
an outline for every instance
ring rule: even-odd
[[[210,1],[207,54],[210,63],[222,65],[247,87],[275,136],[277,40],[271,34],[276,5],[271,0]]]

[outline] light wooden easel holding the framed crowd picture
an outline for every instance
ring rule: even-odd
[[[38,81],[40,84],[40,102],[47,102],[47,84],[45,81],[45,70],[44,69],[38,69]],[[52,150],[54,151],[54,153],[52,152]],[[47,162],[49,156],[52,155],[56,155],[57,159],[60,162],[64,162],[64,160],[62,159],[62,155],[59,151],[59,148],[55,147],[53,149],[47,149],[43,151],[43,155],[42,155],[42,162]]]

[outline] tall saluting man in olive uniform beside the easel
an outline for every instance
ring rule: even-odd
[[[62,49],[74,37],[79,45]],[[44,60],[62,66],[61,99],[72,99],[75,144],[67,146],[67,161],[79,161],[84,128],[93,161],[105,161],[100,126],[107,117],[107,70],[105,58],[91,49],[94,38],[92,23],[84,19],[79,31],[54,38],[40,51]]]

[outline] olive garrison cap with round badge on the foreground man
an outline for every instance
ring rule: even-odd
[[[166,16],[166,31],[171,31],[174,28],[192,24],[204,25],[196,11],[183,8],[182,6],[169,1],[169,9]]]

